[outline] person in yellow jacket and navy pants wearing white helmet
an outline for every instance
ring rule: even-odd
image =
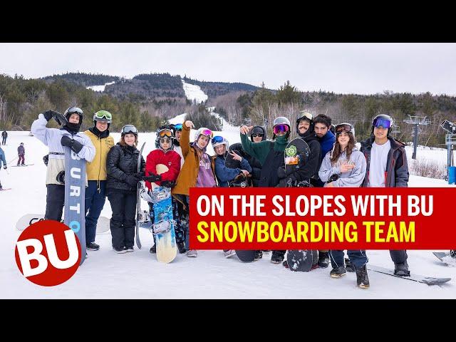
[[[106,159],[114,139],[109,135],[109,126],[113,115],[108,110],[98,110],[93,115],[93,127],[84,132],[95,146],[95,158],[87,163],[86,188],[86,248],[98,251],[100,246],[95,244],[97,222],[106,201]]]

